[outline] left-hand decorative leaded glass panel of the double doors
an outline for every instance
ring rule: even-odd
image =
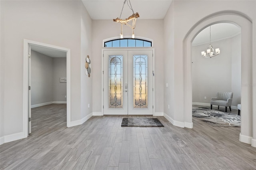
[[[123,56],[108,56],[108,82],[109,82],[109,104],[108,108],[123,108],[122,79],[123,79]]]

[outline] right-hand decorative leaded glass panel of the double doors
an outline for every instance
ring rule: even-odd
[[[133,56],[134,108],[148,108],[148,56]]]

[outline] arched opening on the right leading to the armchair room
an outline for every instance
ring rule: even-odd
[[[214,49],[219,48],[220,54],[211,58],[202,56],[202,51],[206,51],[209,44]],[[241,103],[241,28],[231,23],[208,26],[194,38],[191,60],[192,115],[199,117],[199,113],[207,113],[207,118],[203,119],[204,115],[201,115],[200,119],[218,123],[228,120],[231,125],[235,121],[234,126],[240,126],[237,105]],[[232,105],[227,112],[225,107],[218,105],[213,105],[213,110],[210,110],[210,101],[217,97],[217,92],[233,93]],[[210,119],[212,111],[229,115],[229,118],[224,119],[220,115],[218,121],[214,115],[214,119]]]

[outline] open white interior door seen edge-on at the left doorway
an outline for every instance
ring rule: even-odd
[[[31,45],[28,46],[28,134],[31,133]]]

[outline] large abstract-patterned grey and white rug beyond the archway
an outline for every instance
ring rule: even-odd
[[[241,117],[205,107],[192,107],[192,116],[212,127],[241,127]]]

